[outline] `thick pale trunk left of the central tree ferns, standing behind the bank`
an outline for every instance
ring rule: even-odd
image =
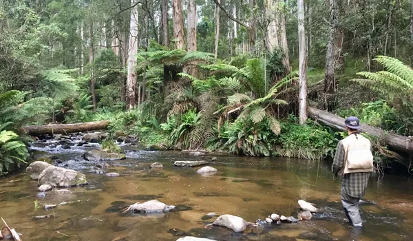
[[[136,106],[136,57],[138,54],[138,6],[137,0],[131,0],[130,36],[127,63],[126,106],[128,110]]]

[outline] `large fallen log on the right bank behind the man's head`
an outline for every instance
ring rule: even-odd
[[[321,109],[317,109],[315,107],[307,107],[308,117],[314,119],[315,121],[319,121],[324,123],[324,125],[328,125],[330,127],[334,127],[336,129],[345,130],[346,126],[344,125],[344,118],[340,116],[336,116],[335,114],[331,114],[330,112],[326,112]],[[383,140],[388,147],[396,151],[404,151],[407,154],[413,154],[413,137],[412,136],[401,136],[398,134],[386,132],[379,127],[371,127],[369,125],[361,124],[360,132],[365,132],[372,136],[376,136]]]

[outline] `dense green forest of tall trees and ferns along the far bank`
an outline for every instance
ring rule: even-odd
[[[52,122],[109,120],[165,149],[331,156],[343,133],[307,119],[311,105],[413,136],[412,50],[407,0],[0,0],[0,175],[28,158],[20,127]],[[410,169],[372,140],[378,166]]]

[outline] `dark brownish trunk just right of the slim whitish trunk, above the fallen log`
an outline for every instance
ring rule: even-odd
[[[330,36],[327,44],[326,53],[326,72],[324,77],[324,92],[333,94],[336,92],[335,79],[335,63],[336,63],[336,48],[335,42],[337,39],[338,28],[338,12],[337,0],[329,0],[330,3]]]

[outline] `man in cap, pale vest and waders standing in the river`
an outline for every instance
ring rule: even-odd
[[[373,155],[370,140],[357,131],[360,120],[355,116],[345,121],[348,137],[339,141],[332,164],[334,176],[343,176],[341,202],[344,212],[354,227],[362,227],[359,213],[359,200],[363,198],[370,172],[373,171]]]

